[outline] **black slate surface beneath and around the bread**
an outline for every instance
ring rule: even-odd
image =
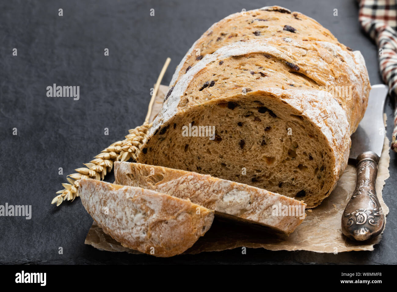
[[[79,199],[58,208],[50,205],[67,174],[142,124],[150,88],[166,57],[172,62],[163,84],[170,82],[179,60],[212,23],[243,8],[274,4],[313,17],[341,43],[360,50],[371,84],[381,82],[376,46],[360,31],[353,0],[0,2],[0,204],[32,205],[33,213],[31,220],[0,217],[0,263],[397,263],[397,169],[392,152],[391,177],[383,192],[391,213],[382,242],[372,252],[248,249],[242,255],[234,249],[169,259],[110,253],[84,244],[93,220]],[[333,16],[335,8],[338,16]],[[104,48],[109,48],[109,56],[104,56]],[[80,86],[80,99],[46,97],[46,87],[53,83]],[[385,110],[390,137],[389,100]]]

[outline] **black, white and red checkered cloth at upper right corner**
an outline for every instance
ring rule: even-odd
[[[379,48],[379,68],[397,104],[397,0],[360,0],[358,19]],[[397,152],[397,107],[391,149]]]

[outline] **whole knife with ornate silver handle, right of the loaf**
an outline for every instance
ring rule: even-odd
[[[342,215],[342,233],[353,240],[372,239],[385,226],[375,183],[385,139],[383,110],[387,91],[386,85],[372,86],[364,118],[351,135],[349,160],[355,160],[357,178],[353,195]]]

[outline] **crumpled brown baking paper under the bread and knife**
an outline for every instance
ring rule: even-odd
[[[161,108],[162,100],[168,87],[161,85],[158,96],[153,105],[150,121],[154,119]],[[384,214],[389,208],[383,201],[382,189],[385,180],[389,177],[389,140],[384,141],[382,156],[378,166],[376,192]],[[272,234],[254,224],[236,224],[225,219],[216,218],[210,230],[202,236],[185,253],[200,253],[203,251],[221,251],[238,247],[266,248],[270,250],[308,250],[323,253],[339,253],[352,250],[374,250],[382,235],[370,242],[353,242],[345,238],[341,232],[341,217],[356,182],[356,169],[348,165],[339,179],[335,190],[320,206],[306,210],[306,219],[289,236]],[[252,225],[252,226],[249,226]],[[105,234],[100,227],[93,223],[85,244],[106,251],[127,251],[140,253],[133,249],[121,246],[116,240]]]

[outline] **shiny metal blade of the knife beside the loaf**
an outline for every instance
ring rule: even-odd
[[[380,157],[385,139],[383,110],[388,89],[384,84],[372,85],[364,118],[351,135],[349,158],[357,159],[365,151],[372,151]]]

